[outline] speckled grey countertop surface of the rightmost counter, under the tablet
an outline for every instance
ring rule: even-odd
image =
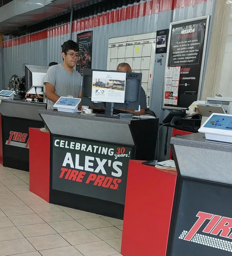
[[[182,145],[201,149],[212,149],[232,152],[232,143],[209,141],[204,133],[195,133],[171,138],[171,144]]]

